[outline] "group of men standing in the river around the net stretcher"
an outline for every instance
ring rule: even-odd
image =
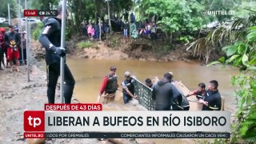
[[[99,95],[102,94],[115,94],[118,90],[118,78],[116,75],[116,67],[110,67],[110,73],[106,74],[103,79],[102,86]],[[134,94],[134,77],[130,76],[130,72],[125,72],[125,79],[122,84],[122,98],[126,104],[131,99],[138,99]],[[154,82],[150,78],[146,78],[146,86],[150,87],[152,91],[152,99],[155,102],[155,110],[177,110],[174,109],[176,105],[182,105],[182,93],[175,86],[174,74],[169,72],[163,75],[163,78],[159,80],[154,79]],[[208,86],[209,90],[206,90],[206,85],[202,82],[198,84],[198,90],[194,90],[187,94],[186,97],[195,95],[198,98],[198,102],[201,103],[202,110],[221,110],[222,98],[218,92],[218,82],[212,80]]]

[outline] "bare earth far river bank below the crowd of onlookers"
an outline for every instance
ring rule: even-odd
[[[82,44],[82,45],[80,45]],[[32,41],[34,58],[42,59],[44,49],[38,41]],[[74,58],[138,60],[150,62],[193,62],[198,61],[184,44],[168,45],[162,41],[149,39],[122,38],[114,35],[99,42],[86,38],[73,38],[66,42],[68,54]]]

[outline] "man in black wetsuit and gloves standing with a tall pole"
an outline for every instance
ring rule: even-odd
[[[68,12],[66,10],[66,18]],[[39,35],[39,42],[46,49],[47,66],[47,97],[49,103],[54,103],[55,89],[60,75],[60,59],[63,57],[64,64],[64,100],[70,103],[74,90],[74,77],[66,65],[66,51],[61,49],[61,27],[62,27],[62,5],[58,6],[56,18],[46,18],[43,22],[42,32]]]

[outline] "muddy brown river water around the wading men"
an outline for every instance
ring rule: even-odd
[[[42,69],[45,69],[43,62]],[[76,80],[74,97],[79,102],[96,102],[102,79],[109,73],[110,66],[117,67],[118,84],[124,79],[124,72],[129,70],[141,82],[146,78],[162,78],[166,72],[174,73],[174,80],[182,83],[190,90],[196,90],[199,82],[205,82],[208,86],[210,80],[217,80],[218,90],[225,98],[225,110],[234,112],[234,88],[230,84],[230,78],[238,74],[238,70],[230,66],[205,66],[200,62],[141,62],[136,60],[96,60],[84,58],[69,58],[67,64]],[[103,110],[141,110],[138,105],[122,104],[122,93],[118,92],[116,102],[103,106]],[[189,139],[152,139],[157,143],[187,143]]]

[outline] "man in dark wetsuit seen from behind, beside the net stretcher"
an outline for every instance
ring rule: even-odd
[[[174,98],[180,97],[178,89],[171,83],[172,78],[170,73],[166,73],[154,86],[152,99],[155,101],[155,110],[170,110]]]

